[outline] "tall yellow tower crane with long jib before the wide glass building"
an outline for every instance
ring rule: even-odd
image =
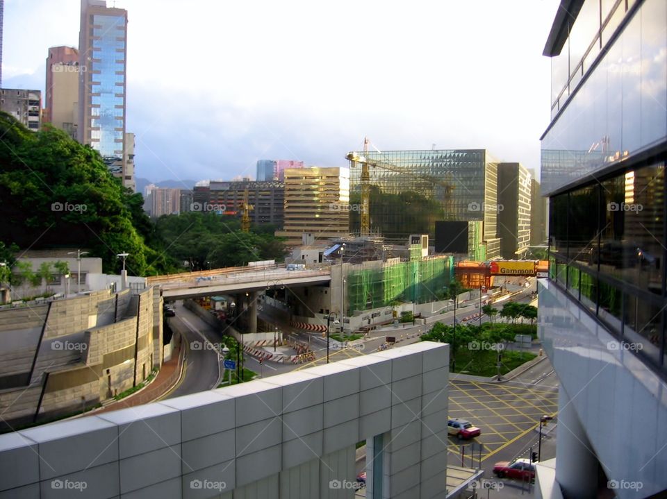
[[[452,201],[452,192],[454,191],[454,187],[452,184],[448,183],[447,181],[443,180],[442,178],[438,178],[436,176],[431,176],[431,175],[424,175],[424,174],[415,174],[415,172],[404,168],[404,167],[398,167],[395,164],[384,162],[384,161],[378,161],[378,160],[371,160],[368,158],[368,144],[370,141],[368,140],[368,137],[364,137],[363,139],[363,156],[359,156],[354,152],[347,153],[347,156],[345,158],[349,160],[350,162],[350,167],[354,168],[356,166],[356,163],[361,163],[361,235],[370,235],[370,168],[369,167],[374,167],[374,168],[381,168],[384,170],[388,171],[395,171],[396,173],[399,174],[408,174],[409,176],[413,178],[419,178],[421,180],[426,180],[429,183],[433,183],[436,185],[439,185],[440,187],[443,187],[444,193],[445,193],[445,210],[449,212],[450,203]]]

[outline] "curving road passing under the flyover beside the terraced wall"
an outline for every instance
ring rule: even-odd
[[[220,335],[210,325],[199,319],[182,303],[174,305],[176,316],[170,317],[169,324],[174,332],[179,332],[186,348],[186,366],[178,385],[163,398],[197,393],[216,387],[220,376],[218,358],[211,343],[220,342]],[[206,343],[208,341],[208,343]]]

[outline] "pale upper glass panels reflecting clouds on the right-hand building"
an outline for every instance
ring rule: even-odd
[[[585,13],[582,8],[579,16]],[[592,14],[599,15],[596,10]],[[666,2],[647,0],[638,4],[622,26],[623,31],[570,96],[542,140],[543,194],[664,142],[665,19]],[[575,27],[579,22],[583,21],[577,17]],[[568,47],[573,53],[571,42],[563,51]],[[552,65],[560,64],[557,59],[565,55],[554,58]]]

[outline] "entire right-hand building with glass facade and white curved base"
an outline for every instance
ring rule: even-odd
[[[547,37],[538,334],[560,391],[538,498],[667,489],[666,52],[664,0],[563,0]]]

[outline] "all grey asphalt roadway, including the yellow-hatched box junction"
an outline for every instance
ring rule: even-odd
[[[534,296],[531,295],[533,289],[534,282],[531,287],[522,289],[520,295],[513,299],[522,302],[532,301],[534,299]],[[459,308],[456,311],[456,319],[460,320],[463,316],[477,312],[477,306],[477,303],[472,301],[467,306]],[[501,307],[502,303],[499,303],[497,308]],[[293,365],[267,362],[261,366],[253,357],[246,356],[245,365],[248,369],[252,369],[261,377],[266,378],[271,375],[306,369],[327,362],[327,342],[322,338],[321,333],[295,330],[284,321],[274,320],[272,307],[267,304],[261,307],[259,314],[261,319],[267,323],[279,325],[283,334],[295,335],[301,341],[309,341],[317,359],[307,364]],[[453,312],[448,312],[443,316],[442,322],[452,324],[453,319]],[[188,342],[202,341],[195,330],[199,330],[209,341],[219,341],[212,328],[182,306],[177,309],[176,317],[171,320],[175,328],[183,332],[184,338]],[[488,318],[483,316],[482,322],[486,321],[488,321]],[[469,321],[469,323],[478,323],[478,321]],[[411,344],[419,341],[419,334],[427,332],[430,328],[431,325],[409,325],[406,328],[390,327],[385,330],[371,332],[363,341],[363,344],[358,346],[339,349],[330,344],[329,360],[330,362],[336,362],[337,360],[377,351],[379,346],[384,344],[388,335],[411,336],[400,341],[397,346]],[[217,356],[215,353],[211,350],[190,349],[188,354],[186,376],[181,385],[170,394],[170,397],[209,389],[217,381]],[[482,428],[482,435],[478,437],[478,440],[485,444],[481,453],[481,468],[485,471],[486,480],[497,482],[499,484],[497,487],[500,488],[500,490],[489,491],[489,498],[518,498],[528,494],[527,490],[522,491],[520,483],[507,479],[498,480],[493,477],[491,471],[495,462],[510,461],[515,457],[528,457],[531,448],[537,450],[538,432],[535,428],[538,426],[542,414],[552,415],[557,411],[557,391],[558,380],[547,359],[532,366],[525,373],[509,382],[470,382],[469,380],[457,380],[456,375],[452,375],[449,394],[450,416],[468,418]],[[551,433],[550,436],[543,438],[541,450],[543,459],[550,459],[555,456],[553,437],[554,434]],[[449,444],[448,462],[460,466],[461,442],[452,438]],[[470,466],[469,453],[465,459],[465,465]],[[360,471],[365,464],[361,461],[358,466],[358,471]],[[486,493],[484,493],[484,496],[486,496]]]

